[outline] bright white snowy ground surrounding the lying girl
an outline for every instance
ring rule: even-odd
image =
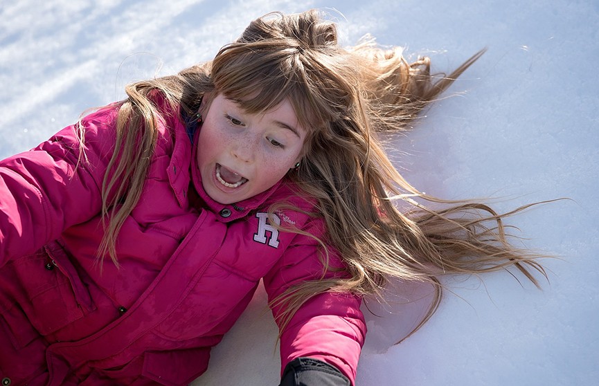
[[[334,8],[343,42],[427,54],[438,71],[489,51],[418,129],[394,143],[409,181],[447,199],[492,196],[508,210],[569,197],[512,223],[545,262],[544,291],[507,273],[458,277],[433,319],[393,345],[422,311],[423,288],[370,329],[357,385],[596,385],[599,378],[599,2],[15,1],[0,5],[0,157],[33,147],[123,85],[209,59],[271,10]],[[158,70],[158,66],[161,68]],[[425,288],[424,288],[425,289]],[[376,307],[372,307],[376,308]],[[376,310],[375,310],[376,311]],[[193,385],[276,385],[276,331],[258,292]]]

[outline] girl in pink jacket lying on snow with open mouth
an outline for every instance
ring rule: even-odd
[[[388,279],[435,286],[422,323],[439,275],[536,283],[504,215],[421,194],[377,139],[481,54],[433,81],[400,48],[339,47],[316,11],[268,15],[3,160],[1,383],[186,385],[262,279],[280,385],[352,385],[361,297]]]

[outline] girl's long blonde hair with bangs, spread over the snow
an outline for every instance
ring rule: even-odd
[[[139,199],[157,136],[157,111],[148,94],[159,90],[190,115],[203,97],[217,92],[254,113],[287,99],[301,125],[309,128],[301,166],[287,178],[316,200],[312,215],[321,217],[328,230],[321,242],[339,251],[348,277],[305,282],[272,300],[285,304],[281,325],[318,293],[380,295],[391,278],[427,282],[436,289],[418,327],[442,298],[440,275],[512,266],[538,285],[533,272],[544,275],[544,270],[537,256],[512,246],[503,226],[504,217],[522,208],[498,214],[484,203],[423,194],[397,172],[377,138],[381,131],[409,128],[482,54],[449,75],[434,76],[427,57],[410,64],[401,48],[384,50],[373,39],[342,48],[335,24],[316,10],[275,13],[252,21],[211,62],[128,86],[111,160],[116,172],[107,174],[102,186],[102,214],[109,223],[100,258],[107,253],[117,263],[118,230]],[[283,207],[278,203],[270,210]]]

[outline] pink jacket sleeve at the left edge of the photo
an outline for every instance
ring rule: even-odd
[[[63,230],[100,212],[100,187],[114,149],[116,109],[82,120],[85,154],[79,161],[75,127],[30,151],[0,161],[0,266],[57,239]]]

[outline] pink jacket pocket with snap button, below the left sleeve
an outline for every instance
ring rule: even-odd
[[[56,242],[33,255],[10,261],[0,273],[4,294],[19,304],[42,335],[51,334],[95,308],[66,252]]]

